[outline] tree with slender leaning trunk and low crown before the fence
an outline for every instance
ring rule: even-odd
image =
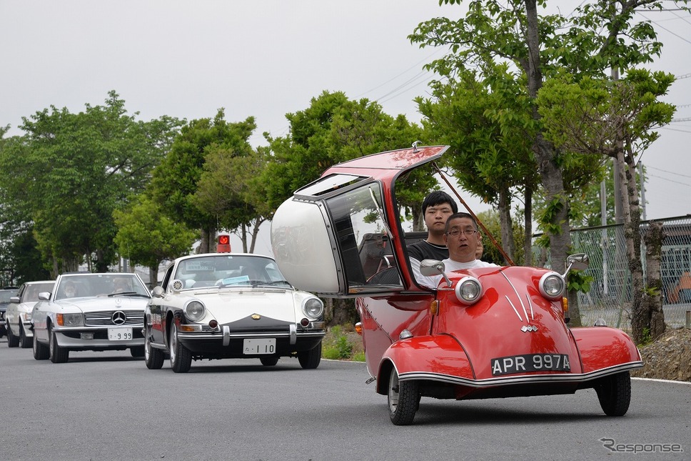
[[[540,91],[546,136],[573,152],[607,156],[619,167],[626,254],[632,278],[632,334],[642,342],[645,332],[665,331],[662,299],[643,302],[647,293],[641,261],[640,203],[637,159],[659,136],[653,131],[672,120],[675,108],[659,100],[674,77],[664,72],[630,69],[624,79],[581,79],[568,75],[549,81]],[[661,283],[660,283],[661,285]]]

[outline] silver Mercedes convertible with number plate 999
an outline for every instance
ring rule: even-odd
[[[137,274],[61,274],[39,293],[31,322],[34,358],[67,362],[72,350],[125,350],[144,355],[144,307],[151,293]]]

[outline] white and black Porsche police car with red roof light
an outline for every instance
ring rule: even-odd
[[[316,368],[326,333],[323,312],[321,299],[293,288],[269,257],[181,257],[146,307],[146,366],[161,368],[167,355],[176,373],[187,372],[192,360],[223,358],[271,366],[279,357],[298,357],[303,368]]]

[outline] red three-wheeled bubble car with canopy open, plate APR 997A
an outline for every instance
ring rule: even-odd
[[[445,272],[436,289],[413,277],[396,181],[448,147],[382,152],[329,168],[273,217],[271,242],[293,285],[356,298],[367,367],[388,396],[391,421],[413,422],[420,397],[483,399],[572,394],[593,388],[605,414],[624,415],[629,370],[642,367],[630,337],[568,327],[565,277],[537,267]],[[568,267],[584,269],[572,255]],[[423,274],[442,274],[425,260]],[[604,323],[604,322],[602,322]]]

